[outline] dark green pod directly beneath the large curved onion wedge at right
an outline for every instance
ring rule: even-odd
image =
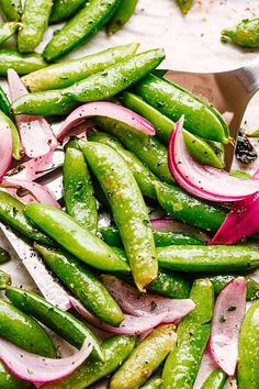
[[[217,231],[227,215],[223,208],[195,199],[177,186],[156,181],[155,188],[167,213],[198,229]]]

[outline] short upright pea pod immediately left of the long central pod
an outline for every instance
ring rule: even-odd
[[[66,211],[78,223],[95,234],[98,227],[97,200],[88,166],[79,149],[67,148],[63,175]]]

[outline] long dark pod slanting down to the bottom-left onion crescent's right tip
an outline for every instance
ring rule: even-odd
[[[95,354],[103,360],[100,345],[93,333],[70,313],[50,304],[38,294],[20,288],[7,287],[5,294],[22,312],[35,318],[77,348],[81,348],[88,336]]]

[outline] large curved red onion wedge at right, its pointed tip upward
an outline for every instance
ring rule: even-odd
[[[183,118],[174,125],[168,164],[176,181],[189,193],[209,201],[238,201],[255,194],[259,182],[229,176],[226,171],[195,162],[188,153],[183,136]]]

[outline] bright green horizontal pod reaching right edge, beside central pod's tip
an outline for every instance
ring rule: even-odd
[[[259,266],[259,253],[249,246],[158,247],[159,267],[179,271],[241,271]]]

